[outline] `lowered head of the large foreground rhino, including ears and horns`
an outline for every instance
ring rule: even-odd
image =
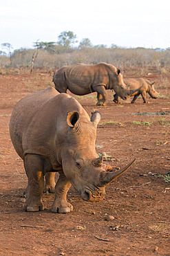
[[[105,185],[116,179],[134,163],[123,170],[103,170],[103,156],[95,149],[96,127],[100,113],[92,113],[91,120],[81,120],[77,111],[67,113],[68,134],[62,152],[63,172],[83,200],[101,201],[105,198]]]

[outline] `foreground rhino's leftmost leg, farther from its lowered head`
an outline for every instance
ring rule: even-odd
[[[24,160],[25,172],[28,176],[29,194],[23,208],[28,212],[44,210],[41,196],[43,194],[43,159],[41,156],[27,154]]]

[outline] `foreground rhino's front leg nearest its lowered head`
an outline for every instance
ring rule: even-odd
[[[67,192],[71,187],[70,181],[65,177],[63,172],[60,172],[59,180],[56,182],[55,199],[52,204],[52,212],[67,213],[72,212],[71,203],[67,202]]]

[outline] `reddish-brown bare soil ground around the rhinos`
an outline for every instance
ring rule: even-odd
[[[116,169],[136,158],[107,185],[104,201],[83,201],[71,187],[70,214],[51,212],[54,194],[49,193],[43,194],[43,212],[23,211],[28,179],[10,141],[10,114],[21,98],[54,86],[52,75],[40,70],[0,75],[0,255],[170,255],[170,183],[158,178],[170,170],[170,91],[161,87],[162,80],[170,84],[166,74],[140,75],[155,80],[161,95],[149,104],[142,98],[115,104],[112,91],[105,107],[96,107],[96,93],[76,96],[89,115],[101,113],[96,151],[111,157],[105,163]]]

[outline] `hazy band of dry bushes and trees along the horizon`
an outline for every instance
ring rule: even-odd
[[[99,44],[93,46],[88,38],[77,44],[77,37],[72,31],[63,31],[57,42],[33,43],[34,48],[20,48],[12,52],[9,43],[1,44],[8,55],[0,51],[0,68],[12,67],[45,67],[60,68],[64,65],[85,63],[96,64],[107,62],[119,68],[125,66],[153,66],[158,68],[170,66],[170,48],[122,48],[111,44],[110,47]]]

